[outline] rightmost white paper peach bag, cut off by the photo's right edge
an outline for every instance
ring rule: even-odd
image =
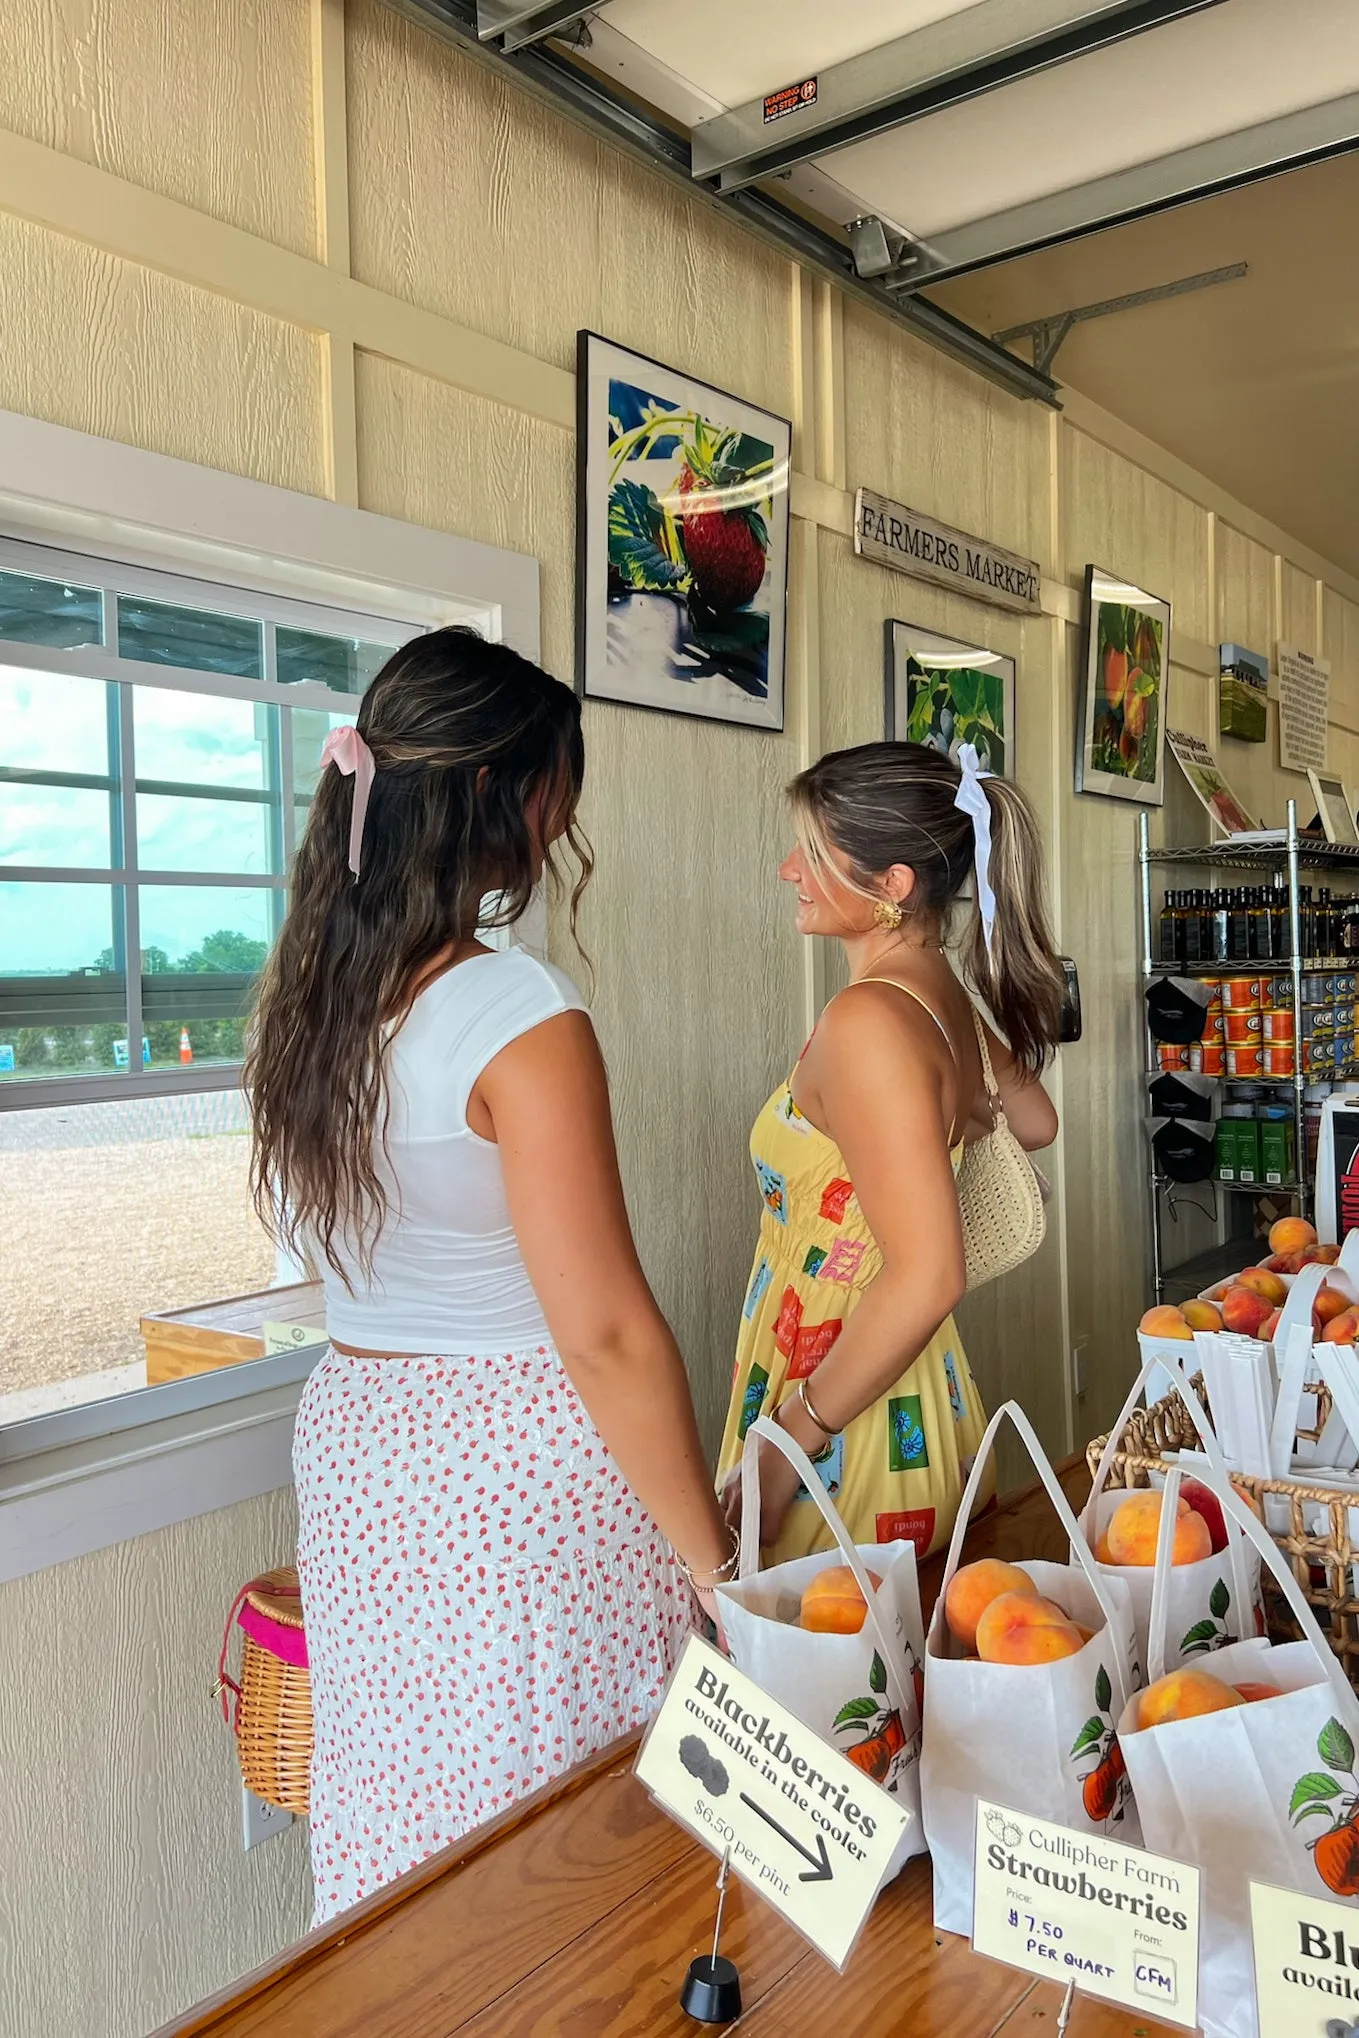
[[[1172,1492],[1178,1471],[1165,1484]],[[1255,1543],[1306,1639],[1233,1643],[1202,1665],[1233,1685],[1275,1685],[1280,1698],[1141,1730],[1131,1700],[1119,1742],[1147,1846],[1202,1869],[1200,2026],[1206,2038],[1257,2038],[1251,1881],[1359,1899],[1359,1700],[1286,1557],[1231,1484],[1214,1480],[1214,1490]],[[1157,1598],[1151,1679],[1163,1667],[1163,1639]]]

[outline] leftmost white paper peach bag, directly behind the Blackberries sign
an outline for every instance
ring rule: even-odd
[[[837,1549],[760,1571],[762,1441],[782,1451],[801,1471]],[[803,1592],[819,1571],[835,1563],[848,1563],[854,1571],[868,1616],[858,1634],[811,1634],[797,1626]],[[870,1571],[882,1579],[878,1590]],[[746,1433],[738,1577],[736,1584],[717,1588],[717,1600],[738,1669],[899,1804],[909,1806],[913,1818],[888,1873],[894,1875],[911,1855],[923,1855],[919,1761],[925,1641],[915,1543],[856,1549],[815,1465],[768,1416],[760,1416]]]

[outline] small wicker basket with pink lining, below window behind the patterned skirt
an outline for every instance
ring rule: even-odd
[[[232,1626],[242,1630],[240,1683],[226,1673]],[[291,1565],[253,1577],[226,1616],[218,1661],[222,1718],[236,1732],[247,1789],[306,1816],[312,1775],[312,1673],[302,1594]],[[226,1694],[236,1694],[234,1720]]]

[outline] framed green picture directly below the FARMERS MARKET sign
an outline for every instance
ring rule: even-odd
[[[982,770],[1015,776],[1015,660],[892,618],[886,624],[886,738],[958,760],[974,744]]]

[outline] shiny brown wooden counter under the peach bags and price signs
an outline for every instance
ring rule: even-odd
[[[1074,1498],[1084,1463],[1062,1467]],[[1066,1557],[1039,1488],[972,1528],[972,1557]],[[929,1606],[939,1559],[925,1565]],[[636,1738],[403,1875],[157,2038],[695,2038],[678,2007],[709,1950],[715,1857],[632,1775]],[[731,1881],[721,1950],[740,2038],[1051,2038],[1062,1989],[935,1936],[929,1861],[874,1908],[837,1975]],[[1072,2038],[1153,2038],[1151,2018],[1078,1997]]]

